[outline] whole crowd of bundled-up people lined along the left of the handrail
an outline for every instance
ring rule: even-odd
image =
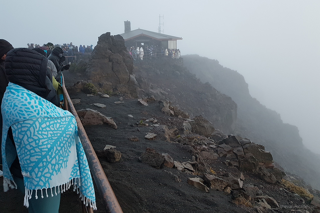
[[[70,67],[63,54],[73,49],[72,43],[13,48],[0,39],[0,176],[4,191],[24,193],[29,213],[58,213],[60,194],[72,186],[96,209],[76,120],[63,109],[60,76]]]

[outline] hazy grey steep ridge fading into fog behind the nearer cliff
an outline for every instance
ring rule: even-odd
[[[296,126],[283,123],[280,114],[252,98],[248,84],[237,71],[199,55],[185,55],[183,58],[184,66],[190,72],[236,102],[237,122],[233,134],[263,144],[287,172],[295,173],[313,187],[320,188],[319,155],[303,146]]]

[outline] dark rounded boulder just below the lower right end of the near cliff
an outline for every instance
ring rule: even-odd
[[[214,132],[214,127],[212,123],[206,120],[202,115],[194,117],[192,120],[188,120],[190,123],[192,132],[195,134],[203,135],[205,137],[210,137],[212,132]]]

